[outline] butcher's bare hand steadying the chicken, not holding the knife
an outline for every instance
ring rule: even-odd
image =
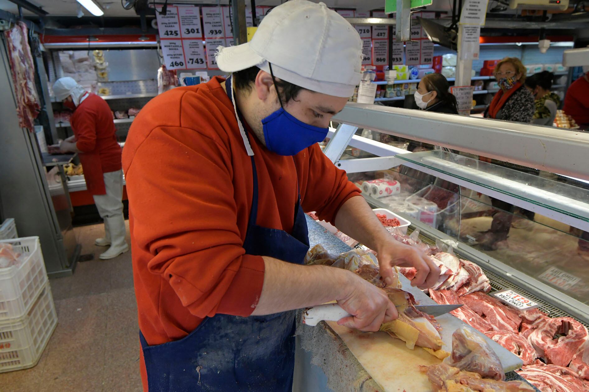
[[[375,249],[378,255],[380,276],[387,284],[392,283],[393,266],[415,267],[417,274],[411,281],[412,286],[429,289],[434,286],[440,275],[440,269],[432,259],[415,247],[398,242],[392,237],[379,243]]]

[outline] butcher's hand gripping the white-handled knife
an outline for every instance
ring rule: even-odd
[[[356,274],[348,274],[348,290],[345,297],[337,300],[337,304],[352,316],[343,317],[337,324],[360,331],[376,332],[382,323],[397,318],[395,304],[383,290]]]

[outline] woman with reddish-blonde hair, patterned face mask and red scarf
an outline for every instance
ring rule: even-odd
[[[487,109],[485,118],[530,122],[534,116],[534,96],[524,88],[525,67],[516,57],[506,57],[495,68],[495,79],[501,89]]]

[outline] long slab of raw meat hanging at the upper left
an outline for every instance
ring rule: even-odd
[[[35,64],[28,42],[28,29],[24,22],[18,22],[5,32],[8,46],[8,60],[16,98],[18,125],[34,129],[34,120],[39,113],[39,98],[35,88]]]

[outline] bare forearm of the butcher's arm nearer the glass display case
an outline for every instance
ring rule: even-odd
[[[337,212],[335,226],[374,250],[391,237],[362,196],[351,197],[343,203]]]

